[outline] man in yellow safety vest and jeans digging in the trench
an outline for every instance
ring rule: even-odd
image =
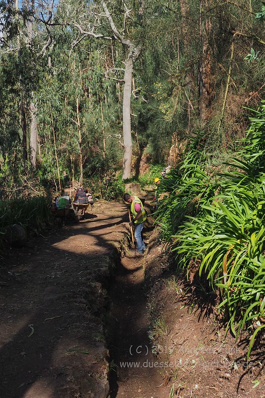
[[[131,196],[130,194],[124,194],[123,200],[131,204],[133,219],[129,222],[129,225],[134,224],[135,226],[134,236],[137,244],[137,254],[142,255],[146,250],[144,238],[142,237],[142,230],[146,220],[146,212],[143,203],[137,196]]]

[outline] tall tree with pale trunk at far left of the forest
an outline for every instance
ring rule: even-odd
[[[2,1],[0,57],[2,62],[14,59],[16,65],[10,67],[10,76],[16,76],[12,85],[6,82],[5,90],[16,93],[16,104],[19,113],[16,113],[18,134],[21,136],[22,158],[24,162],[24,175],[29,165],[33,170],[36,165],[37,150],[37,120],[34,104],[34,93],[38,90],[38,75],[41,70],[42,58],[38,54],[39,43],[36,40],[34,27],[34,1],[16,0]],[[10,65],[10,64],[9,64]],[[6,109],[7,110],[7,109]],[[4,121],[3,121],[4,123]],[[5,124],[7,124],[7,120]],[[10,137],[11,138],[11,137]]]

